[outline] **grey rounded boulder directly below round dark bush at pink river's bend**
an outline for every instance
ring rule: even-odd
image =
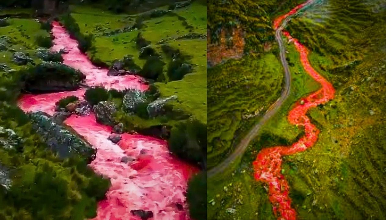
[[[113,102],[100,101],[93,109],[97,122],[110,126],[114,124],[114,113],[117,109]]]

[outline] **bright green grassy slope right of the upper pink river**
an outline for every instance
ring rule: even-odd
[[[87,51],[91,60],[97,63],[111,65],[114,60],[122,60],[126,55],[131,55],[136,65],[142,67],[146,60],[139,58],[140,51],[135,44],[135,38],[140,32],[147,41],[151,41],[151,47],[157,50],[165,58],[161,50],[160,40],[179,49],[181,54],[190,55],[190,63],[195,65],[191,74],[183,79],[168,83],[156,83],[162,97],[177,95],[176,108],[186,111],[203,123],[206,123],[206,39],[182,39],[175,40],[189,33],[206,33],[206,5],[195,1],[187,7],[176,9],[171,13],[156,18],[143,20],[143,27],[132,31],[126,31],[110,36],[104,36],[104,31],[113,31],[131,27],[140,14],[112,14],[102,9],[99,5],[86,7],[72,5],[71,16],[76,20],[82,34],[94,34],[91,49]],[[167,10],[168,5],[157,9]],[[187,28],[187,25],[193,28]],[[169,39],[170,38],[170,39]],[[165,70],[170,58],[165,58]]]

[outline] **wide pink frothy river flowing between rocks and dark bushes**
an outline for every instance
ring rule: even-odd
[[[88,57],[77,48],[77,41],[70,38],[66,29],[58,22],[53,22],[54,46],[52,50],[65,49],[64,63],[81,70],[86,75],[88,86],[103,86],[106,89],[123,90],[134,88],[147,90],[148,85],[142,83],[138,76],[107,76],[108,69],[95,67]],[[55,103],[66,96],[78,96],[83,99],[85,89],[71,92],[20,97],[18,105],[25,112],[41,110],[54,114]],[[191,166],[170,154],[167,142],[143,135],[124,133],[118,144],[107,138],[111,127],[95,121],[95,115],[71,115],[64,121],[77,133],[82,135],[92,146],[98,149],[97,158],[90,166],[111,181],[106,193],[107,199],[98,204],[95,220],[140,220],[131,214],[133,209],[152,211],[151,219],[188,220],[188,207],[185,192],[187,180],[198,172]],[[146,154],[140,155],[140,151]],[[121,158],[130,156],[137,158],[129,165],[121,162]],[[177,204],[181,204],[183,209]]]

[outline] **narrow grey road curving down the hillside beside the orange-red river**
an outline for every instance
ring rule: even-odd
[[[284,43],[282,41],[282,30],[287,25],[287,22],[289,22],[289,20],[291,20],[291,17],[294,14],[296,14],[296,12],[299,9],[301,9],[301,8],[303,8],[305,6],[308,6],[309,4],[312,4],[313,2],[315,2],[315,1],[309,0],[309,1],[305,2],[304,4],[299,5],[297,7],[295,13],[287,14],[287,16],[284,16],[283,18],[280,17],[280,19],[282,19],[282,20],[279,20],[279,18],[277,18],[276,21],[274,22],[275,29],[276,29],[275,37],[276,37],[276,40],[278,42],[278,47],[280,48],[280,59],[281,59],[281,62],[282,62],[282,66],[284,68],[285,87],[283,88],[281,96],[277,99],[277,101],[275,101],[267,109],[267,111],[265,112],[263,117],[258,121],[258,123],[256,123],[251,128],[251,130],[247,133],[247,135],[239,142],[239,144],[235,148],[235,151],[233,151],[231,153],[231,155],[229,157],[227,157],[219,165],[215,166],[211,170],[208,170],[208,173],[207,173],[208,178],[209,177],[213,177],[217,173],[221,173],[228,166],[230,166],[231,162],[235,161],[235,159],[237,159],[238,157],[243,155],[243,153],[246,150],[246,148],[247,148],[248,144],[250,143],[250,141],[252,139],[254,139],[256,137],[256,135],[258,135],[259,130],[267,122],[267,120],[269,120],[271,117],[273,117],[274,114],[276,114],[276,112],[280,109],[281,105],[284,103],[284,101],[287,99],[287,97],[291,93],[291,72],[289,71],[288,63],[287,63],[287,60],[285,58],[285,46],[284,46]],[[282,21],[282,23],[281,23],[281,25],[279,25],[281,21]]]

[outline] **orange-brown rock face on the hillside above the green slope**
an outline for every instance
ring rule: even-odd
[[[211,34],[208,29],[208,65],[214,66],[223,60],[241,58],[244,51],[244,32],[239,28],[233,28],[230,32],[222,29],[219,35],[219,43],[211,43]]]

